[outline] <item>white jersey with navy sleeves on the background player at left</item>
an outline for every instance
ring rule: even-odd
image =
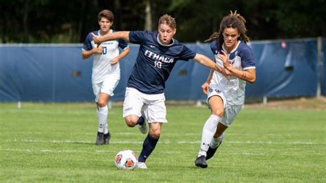
[[[115,31],[110,29],[109,32],[112,33]],[[95,31],[93,33],[101,36],[100,31]],[[102,42],[100,46],[103,47],[103,51],[100,54],[94,54],[93,69],[91,74],[91,81],[95,84],[103,82],[109,73],[117,73],[120,75],[119,62],[111,65],[111,60],[119,55],[118,47],[123,50],[128,48],[128,44],[124,40],[109,40]],[[89,33],[84,42],[83,50],[89,51],[95,47],[97,47],[97,45],[94,43],[93,36],[91,36],[91,33]]]

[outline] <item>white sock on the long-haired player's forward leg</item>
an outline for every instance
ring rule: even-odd
[[[217,123],[221,121],[221,118],[215,114],[211,114],[207,119],[202,132],[202,142],[200,143],[200,149],[198,156],[206,156],[206,152],[208,151],[208,147],[210,145],[210,141],[216,132]]]

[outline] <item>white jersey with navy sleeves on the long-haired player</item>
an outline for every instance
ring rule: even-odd
[[[211,43],[210,49],[214,53],[217,65],[224,68],[223,62],[217,56],[220,53],[217,48],[217,41],[215,40]],[[222,49],[227,52],[224,47]],[[236,69],[247,70],[256,68],[252,50],[245,42],[239,41],[237,47],[228,53],[228,58],[228,62]],[[224,93],[228,105],[237,106],[243,104],[246,90],[245,81],[234,75],[230,75],[230,81],[228,81],[224,75],[215,71],[210,84],[215,84],[221,88],[221,92]]]

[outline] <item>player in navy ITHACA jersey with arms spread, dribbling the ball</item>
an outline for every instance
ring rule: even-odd
[[[164,88],[177,60],[190,59],[221,72],[221,69],[206,56],[195,53],[186,45],[173,38],[176,32],[175,19],[168,14],[160,17],[158,32],[133,31],[115,32],[106,36],[96,36],[96,43],[122,38],[140,45],[133,71],[129,77],[123,103],[123,117],[129,127],[138,125],[140,132],[149,133],[142,145],[138,158],[138,168],[146,169],[149,157],[161,134],[161,127],[166,121]]]

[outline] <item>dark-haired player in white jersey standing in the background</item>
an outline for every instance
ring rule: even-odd
[[[102,10],[98,13],[98,25],[100,29],[87,35],[82,49],[83,59],[94,56],[91,82],[97,104],[98,133],[96,145],[107,145],[110,140],[110,132],[107,125],[107,102],[113,96],[113,90],[120,80],[119,61],[129,53],[129,46],[125,40],[110,40],[96,45],[91,34],[105,36],[115,32],[113,25],[113,13],[110,10]],[[119,47],[122,49],[119,53]]]

